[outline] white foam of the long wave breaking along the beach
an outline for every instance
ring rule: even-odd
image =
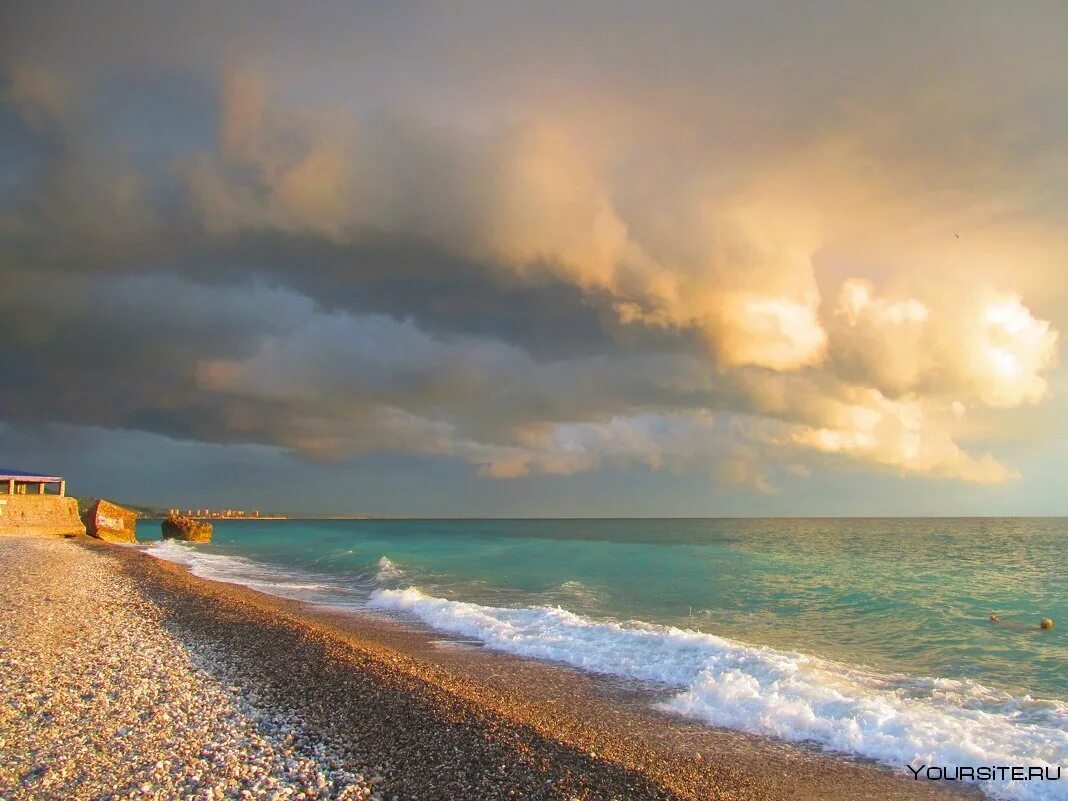
[[[696,631],[597,622],[559,608],[505,609],[376,591],[368,606],[410,613],[488,647],[671,685],[662,707],[714,725],[814,741],[905,765],[1038,766],[1068,773],[1068,705],[971,681],[882,675]],[[1068,801],[1061,781],[987,782],[998,798]]]

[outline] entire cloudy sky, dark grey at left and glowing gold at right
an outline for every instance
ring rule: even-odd
[[[0,464],[1068,514],[1068,6],[7,2]]]

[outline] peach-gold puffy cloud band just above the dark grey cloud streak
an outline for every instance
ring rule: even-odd
[[[633,235],[604,167],[565,126],[528,121],[472,135],[411,120],[360,125],[328,110],[265,109],[262,85],[246,75],[229,79],[222,108],[220,153],[199,155],[187,174],[208,230],[414,235],[461,258],[606,294],[624,325],[696,330],[727,365],[794,370],[823,356],[812,265],[759,245],[758,215],[682,209],[700,219],[697,236],[727,248],[700,244],[693,263],[675,264]]]

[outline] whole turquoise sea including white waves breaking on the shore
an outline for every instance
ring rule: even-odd
[[[897,770],[1059,768],[979,784],[1068,799],[1068,519],[220,520],[139,547],[647,682],[712,726]]]

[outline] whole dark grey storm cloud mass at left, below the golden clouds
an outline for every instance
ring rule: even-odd
[[[551,271],[517,276],[413,236],[214,235],[168,192],[166,170],[96,152],[44,100],[10,104],[2,134],[47,156],[4,204],[9,421],[481,464],[508,452],[509,426],[677,397],[675,357],[654,357],[700,350],[623,329],[607,302]],[[220,365],[254,370],[287,341],[283,357],[261,357],[260,386],[219,382]],[[301,391],[280,392],[294,376]]]

